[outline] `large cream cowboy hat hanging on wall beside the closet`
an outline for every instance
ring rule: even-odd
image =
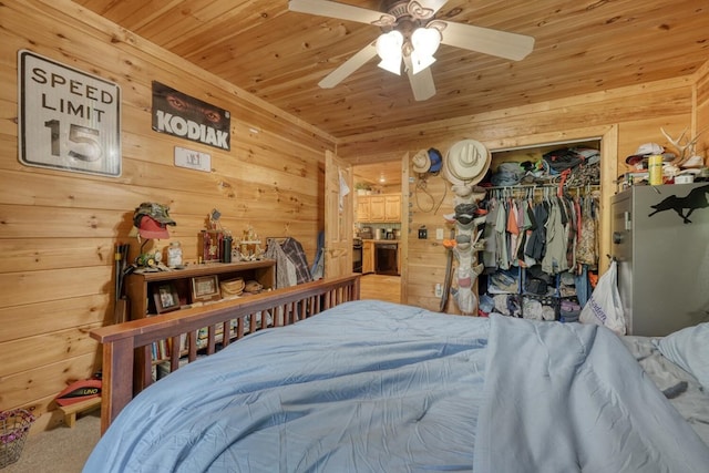
[[[492,155],[475,140],[460,141],[445,155],[445,175],[453,185],[477,184],[485,176]]]

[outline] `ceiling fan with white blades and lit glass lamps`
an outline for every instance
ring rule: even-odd
[[[401,74],[401,63],[417,101],[435,94],[430,65],[440,43],[520,61],[532,52],[534,38],[455,23],[434,18],[448,0],[388,0],[387,12],[328,0],[289,0],[288,9],[301,13],[357,21],[381,28],[372,43],[330,72],[318,85],[331,89],[379,55],[379,66]]]

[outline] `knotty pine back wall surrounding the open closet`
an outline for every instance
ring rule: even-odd
[[[352,163],[370,164],[378,161],[397,161],[408,151],[413,156],[418,150],[435,147],[443,154],[455,142],[473,138],[495,150],[534,146],[604,136],[602,148],[602,206],[607,209],[616,193],[616,178],[628,171],[626,156],[647,142],[655,142],[672,150],[662,136],[660,126],[674,136],[685,127],[702,130],[709,124],[709,74],[707,66],[689,76],[643,85],[600,91],[564,100],[525,105],[515,109],[491,111],[479,115],[431,122],[424,126],[376,132],[340,140],[338,155]],[[703,136],[703,135],[702,135]],[[698,151],[706,157],[709,132]],[[494,153],[493,153],[494,156]],[[494,163],[493,163],[494,165]],[[435,282],[443,282],[445,250],[441,241],[432,237],[432,229],[450,226],[442,215],[453,212],[453,194],[441,177],[432,177],[427,184],[430,202],[443,204],[433,213],[415,205],[422,198],[414,183],[409,184],[412,206],[408,232],[408,278],[404,301],[438,310],[434,296]],[[603,212],[602,255],[609,248],[609,213]],[[429,228],[429,239],[418,239],[418,228]],[[602,270],[607,267],[602,259]],[[458,312],[449,305],[449,312]]]

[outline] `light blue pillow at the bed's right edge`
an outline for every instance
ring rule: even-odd
[[[657,342],[660,353],[709,390],[709,322],[687,327]]]

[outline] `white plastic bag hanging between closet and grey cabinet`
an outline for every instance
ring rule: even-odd
[[[580,322],[606,326],[618,335],[625,335],[625,315],[617,281],[618,263],[614,259],[582,309]]]

